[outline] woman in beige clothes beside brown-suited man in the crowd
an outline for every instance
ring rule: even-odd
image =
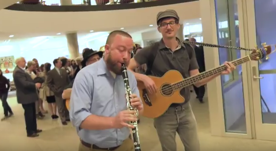
[[[41,76],[45,78],[45,82],[42,85],[40,98],[44,98],[44,100],[48,103],[48,109],[52,115],[52,119],[58,118],[57,115],[57,105],[54,93],[47,87],[47,73],[51,70],[51,64],[45,63],[44,64],[44,72]]]

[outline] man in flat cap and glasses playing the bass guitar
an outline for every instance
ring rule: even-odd
[[[142,64],[147,64],[146,75],[134,73],[136,79],[144,83],[147,93],[155,94],[159,89],[147,75],[161,77],[169,70],[179,71],[183,78],[199,74],[193,47],[184,44],[176,37],[180,28],[179,21],[179,16],[175,10],[159,12],[156,23],[158,31],[162,34],[162,39],[148,47],[144,47],[130,60],[128,66],[130,70]],[[221,74],[229,74],[235,68],[230,62],[226,62],[225,65],[227,70]],[[194,83],[194,85],[197,87],[204,85],[221,74],[204,78]],[[166,82],[168,81],[164,79],[164,83]],[[189,87],[181,89],[180,94],[183,98],[180,97],[181,100],[178,100],[178,102],[184,103],[172,103],[167,107],[166,112],[154,118],[154,127],[158,133],[162,151],[177,150],[176,132],[180,136],[185,151],[200,151],[196,120],[189,103]],[[160,103],[159,105],[162,105],[162,100],[156,101]]]

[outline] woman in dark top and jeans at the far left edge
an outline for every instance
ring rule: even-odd
[[[4,109],[4,117],[1,118],[1,121],[13,115],[11,107],[7,102],[9,89],[10,89],[10,82],[5,76],[3,76],[3,73],[0,70],[0,99],[2,101],[2,106]]]

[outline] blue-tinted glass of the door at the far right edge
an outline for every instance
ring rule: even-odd
[[[276,43],[276,0],[254,0],[257,44]],[[275,47],[273,47],[275,50]],[[275,59],[274,59],[275,58]],[[276,124],[276,53],[259,63],[260,104],[263,123]]]

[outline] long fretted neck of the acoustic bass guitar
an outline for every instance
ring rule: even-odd
[[[242,63],[245,63],[249,60],[253,60],[253,59],[256,59],[256,57],[260,57],[261,54],[260,53],[253,53],[249,56],[246,56],[246,57],[242,57],[242,58],[239,58],[239,59],[236,59],[236,60],[233,60],[231,61],[231,63],[234,65],[234,66],[237,66],[237,65],[240,65]],[[173,89],[174,90],[181,90],[183,89],[184,87],[187,87],[187,86],[190,86],[190,85],[193,85],[195,83],[197,83],[198,81],[201,81],[202,79],[205,79],[207,77],[210,77],[210,76],[214,76],[214,75],[217,75],[217,74],[220,74],[222,73],[223,71],[225,71],[227,69],[226,65],[221,65],[217,68],[214,68],[214,69],[211,69],[211,70],[208,70],[206,72],[203,72],[199,75],[196,75],[196,76],[190,76],[188,78],[185,78],[183,81],[180,81],[180,82],[177,82],[177,83],[173,83],[172,86],[173,86]]]

